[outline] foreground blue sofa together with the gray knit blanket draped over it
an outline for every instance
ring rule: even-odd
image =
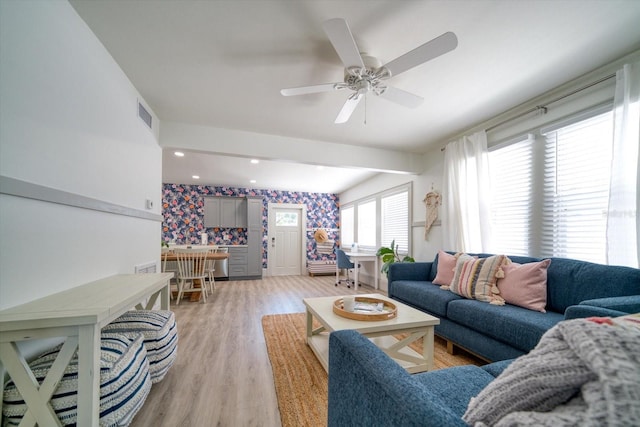
[[[567,320],[518,359],[413,375],[358,332],[333,332],[327,425],[640,425],[639,321]]]

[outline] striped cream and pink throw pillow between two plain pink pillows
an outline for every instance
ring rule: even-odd
[[[496,281],[504,277],[502,265],[507,262],[505,255],[494,255],[487,258],[475,259],[462,254],[456,262],[456,269],[450,286],[443,286],[465,298],[478,301],[504,304],[496,286]]]

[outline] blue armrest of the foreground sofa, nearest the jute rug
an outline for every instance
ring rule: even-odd
[[[329,427],[466,426],[447,402],[353,330],[329,337]]]

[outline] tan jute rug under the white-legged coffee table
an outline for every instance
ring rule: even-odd
[[[327,373],[307,346],[306,315],[266,315],[262,318],[262,329],[273,369],[282,426],[326,425]],[[417,344],[414,349],[420,351]],[[464,354],[454,356],[447,353],[445,342],[436,337],[436,369],[481,363]]]

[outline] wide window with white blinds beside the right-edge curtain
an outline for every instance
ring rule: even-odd
[[[606,263],[613,114],[608,111],[542,133],[546,142],[541,253]]]

